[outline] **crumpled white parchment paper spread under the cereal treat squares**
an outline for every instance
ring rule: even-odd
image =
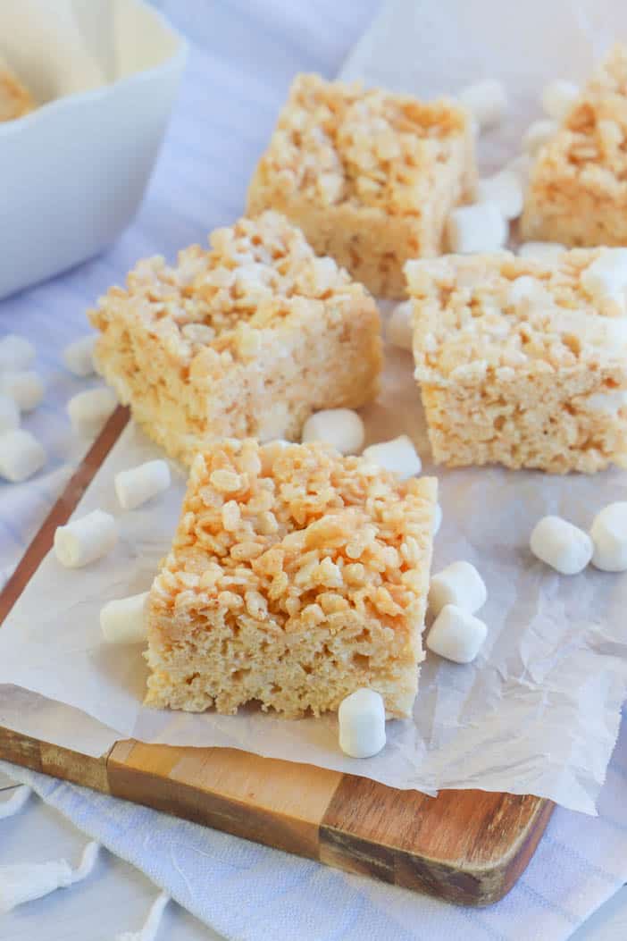
[[[515,92],[509,132],[481,143],[482,159],[496,164],[499,149],[514,155],[508,140],[535,116],[543,78],[585,75],[603,52],[608,22],[618,28],[619,21],[627,37],[627,10],[598,0],[572,8],[554,0],[524,10],[489,0],[448,0],[437,9],[398,0],[384,9],[346,72],[425,95],[481,76],[503,77]],[[432,472],[411,357],[386,354],[384,391],[364,411],[368,443],[407,432],[425,472]],[[0,684],[6,684],[0,724],[91,754],[123,736],[229,746],[402,789],[534,793],[594,813],[627,691],[627,575],[589,568],[564,578],[527,547],[531,528],[546,513],[587,527],[605,503],[627,499],[627,474],[435,470],[444,523],[434,567],[460,558],[478,566],[489,588],[481,612],[488,640],[473,664],[430,656],[414,721],[388,723],[384,752],[356,761],[339,752],[333,716],[293,722],[255,710],[189,715],[141,706],[141,648],[103,645],[99,612],[111,598],[147,589],[167,550],[180,510],[181,471],[173,468],[174,485],[165,495],[131,513],[119,510],[113,490],[118,470],[158,454],[138,430],[127,429],[77,511],[98,506],[117,516],[117,549],[79,571],[48,557],[0,630]]]

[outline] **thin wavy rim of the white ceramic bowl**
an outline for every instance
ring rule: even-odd
[[[165,31],[177,41],[177,47],[174,52],[170,56],[167,56],[163,62],[160,62],[158,65],[149,66],[148,69],[140,69],[137,72],[132,72],[130,75],[123,75],[121,78],[117,78],[113,82],[107,82],[104,85],[99,85],[97,88],[86,88],[85,91],[73,91],[69,95],[53,98],[49,102],[39,104],[33,111],[29,111],[20,118],[0,121],[0,138],[12,134],[19,134],[21,131],[25,131],[27,128],[36,125],[40,120],[47,120],[49,116],[54,118],[58,111],[71,108],[75,104],[98,102],[102,98],[118,93],[119,88],[143,84],[149,81],[157,72],[176,72],[178,69],[182,69],[185,66],[190,48],[188,40],[170,23],[165,13],[160,9],[152,7],[147,0],[131,0],[131,2],[143,9],[149,16],[153,16],[158,20],[162,26],[164,26]]]

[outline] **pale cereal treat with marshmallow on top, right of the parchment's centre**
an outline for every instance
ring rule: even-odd
[[[553,263],[449,255],[405,271],[437,462],[626,465],[625,249],[574,248]]]

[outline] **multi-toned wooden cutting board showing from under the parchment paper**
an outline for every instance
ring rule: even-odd
[[[0,595],[0,625],[128,421],[118,408]],[[116,742],[100,758],[0,727],[0,758],[288,853],[487,905],[531,859],[553,810],[529,795],[444,790],[436,798],[368,778],[227,748]]]

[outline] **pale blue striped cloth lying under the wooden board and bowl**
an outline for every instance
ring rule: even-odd
[[[457,8],[452,0],[448,5],[452,12]],[[155,252],[171,257],[240,214],[245,185],[291,75],[335,74],[376,4],[249,0],[244,6],[242,0],[210,6],[166,0],[161,6],[195,48],[142,212],[100,259],[0,304],[0,332],[23,333],[38,347],[37,365],[48,388],[25,426],[51,455],[47,471],[34,481],[0,487],[0,569],[6,571],[80,457],[64,407],[86,382],[63,371],[60,351],[85,331],[85,308],[119,282],[136,258]],[[31,784],[197,917],[246,941],[437,941],[457,933],[467,941],[560,939],[627,877],[624,726],[599,817],[557,809],[518,885],[505,900],[478,911],[345,875],[23,769],[3,764],[2,770]],[[5,935],[10,930],[0,919],[0,936]]]

